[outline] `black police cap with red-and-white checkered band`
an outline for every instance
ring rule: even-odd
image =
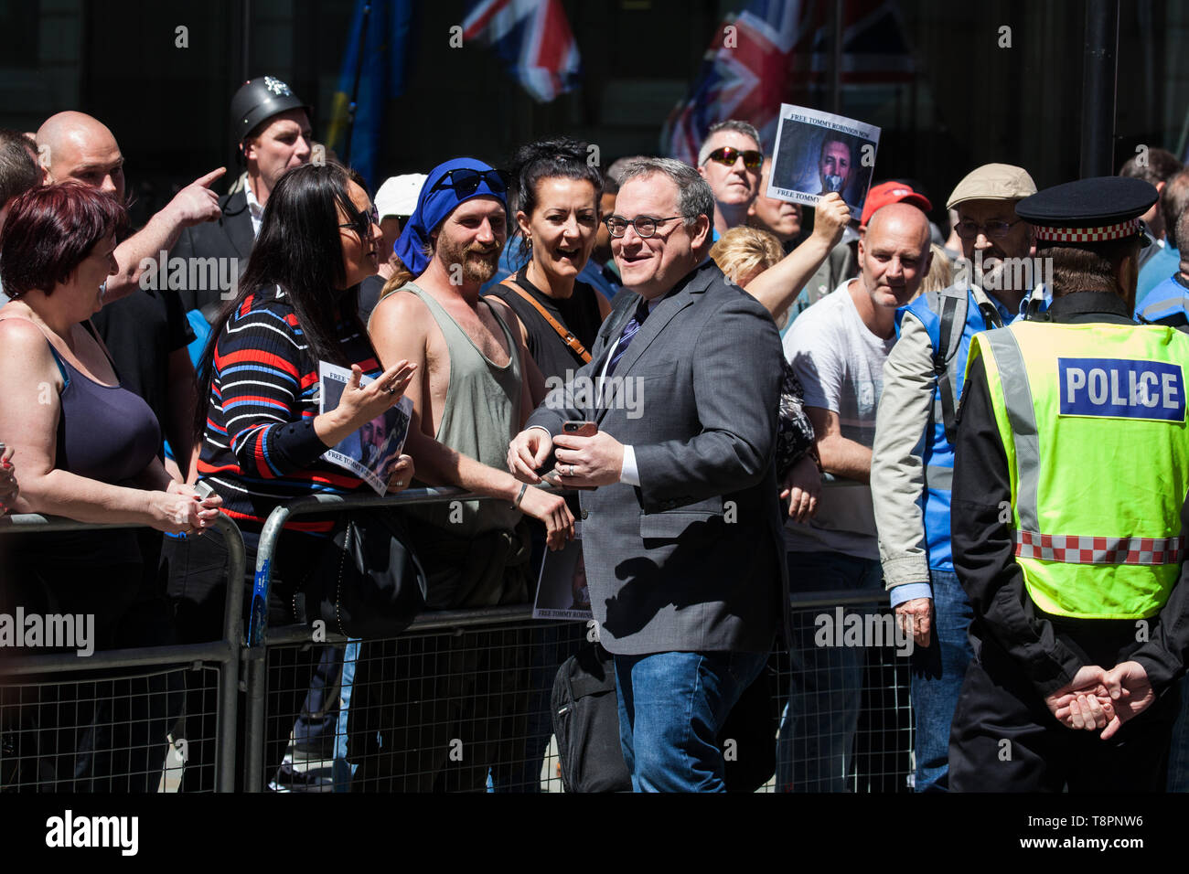
[[[1156,188],[1126,176],[1097,176],[1037,191],[1015,205],[1037,241],[1105,243],[1139,234],[1139,216],[1159,200]]]

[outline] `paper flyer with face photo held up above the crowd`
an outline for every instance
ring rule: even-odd
[[[781,103],[769,197],[816,205],[838,191],[856,219],[875,171],[880,128],[804,106]]]

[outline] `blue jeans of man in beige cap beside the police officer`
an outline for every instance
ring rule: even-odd
[[[929,571],[933,624],[929,646],[912,650],[912,710],[917,721],[917,792],[949,791],[950,723],[970,649],[970,601],[952,571]]]

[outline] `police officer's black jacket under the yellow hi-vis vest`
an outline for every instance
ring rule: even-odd
[[[1065,323],[1134,323],[1121,298],[1094,291],[1056,298],[1049,316]],[[1144,666],[1157,691],[1170,684],[1183,669],[1189,647],[1189,583],[1183,560],[1168,603],[1147,620],[1146,641],[1134,621],[1052,616],[1028,597],[1009,524],[1001,521],[1001,508],[1012,501],[1011,479],[981,358],[965,381],[955,453],[950,514],[954,570],[974,608],[970,635],[975,649],[1005,650],[1023,666],[1040,696],[1068,685],[1083,665],[1112,668],[1127,660]],[[1109,471],[1076,470],[1076,459],[1070,464],[1072,474],[1097,476],[1109,489]],[[1181,524],[1182,530],[1189,530],[1189,502],[1182,509]]]

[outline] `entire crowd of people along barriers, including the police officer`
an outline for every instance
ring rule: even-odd
[[[219,639],[213,520],[243,533],[251,591],[269,514],[366,490],[325,454],[407,398],[388,491],[495,498],[402,510],[427,608],[527,603],[545,554],[580,537],[637,791],[725,787],[719,732],[778,636],[793,656],[778,787],[845,791],[866,649],[823,646],[789,598],[885,589],[914,642],[918,791],[1076,788],[1088,760],[1099,788],[1189,788],[1168,767],[1189,749],[1189,170],[1174,156],[1039,193],[1024,168],[973,168],[943,233],[911,180],[874,184],[858,215],[824,194],[810,227],[767,196],[772,159],[743,120],[710,128],[697,168],[604,171],[552,137],[507,169],[459,157],[392,177],[375,200],[333,155],[312,159],[309,108],[279,80],[245,83],[232,120],[229,190],[215,169],[136,232],[100,120],[0,131],[0,510],[140,526],[6,536],[0,611],[94,615],[101,649]],[[150,282],[163,252],[161,270],[182,266]],[[1139,364],[1111,370],[1122,360]],[[322,363],[351,373],[334,407]],[[1128,413],[1157,395],[1159,425]],[[1158,455],[1151,471],[1086,480],[1077,464],[1119,466],[1125,440]],[[316,618],[303,593],[334,527],[285,524],[270,624]],[[1115,546],[1055,554],[1074,535]],[[356,790],[535,786],[549,730],[526,715],[555,664],[527,637],[427,650],[395,681],[392,658],[363,641],[289,666],[277,712],[354,693],[326,725],[270,719],[270,774],[325,730]],[[185,788],[209,788],[214,717],[172,683],[153,690],[169,706],[115,721],[122,737],[87,730],[102,702],[76,725],[40,708],[18,754],[46,787],[131,769],[120,787],[151,791],[183,731]],[[118,762],[102,743],[144,753]]]

